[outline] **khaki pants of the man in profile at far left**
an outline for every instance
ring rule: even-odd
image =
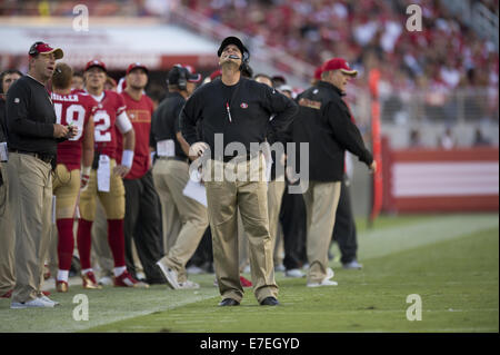
[[[16,225],[16,286],[12,302],[41,295],[43,262],[50,244],[52,176],[50,164],[11,152],[7,164],[12,193],[10,205]]]

